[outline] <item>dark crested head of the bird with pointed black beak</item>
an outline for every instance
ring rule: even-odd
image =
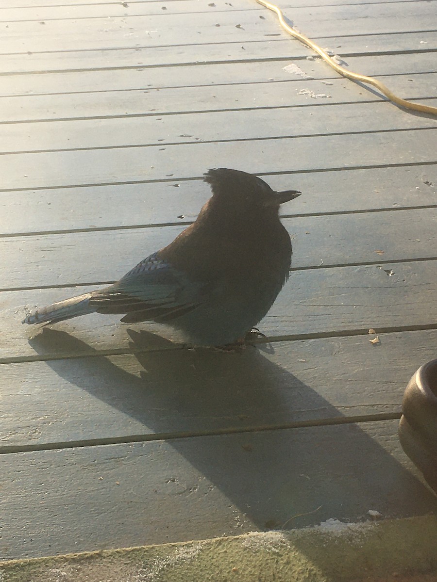
[[[298,190],[276,192],[258,176],[217,168],[206,172],[205,182],[209,183],[216,207],[227,209],[230,214],[278,214],[280,204],[301,195]]]

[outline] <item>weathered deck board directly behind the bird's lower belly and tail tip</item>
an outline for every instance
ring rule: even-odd
[[[83,260],[83,256],[81,256]],[[390,275],[390,273],[392,273]],[[59,282],[62,278],[58,279]],[[306,334],[348,335],[368,329],[412,328],[435,325],[437,261],[321,268],[294,271],[259,328],[272,338]],[[0,359],[47,359],[106,353],[125,353],[133,331],[146,329],[175,342],[182,341],[171,328],[145,322],[121,324],[118,315],[92,314],[56,324],[55,329],[71,333],[61,342],[48,341],[38,327],[23,326],[24,306],[44,306],[96,289],[86,285],[61,289],[28,289],[2,292]],[[28,338],[38,338],[34,342]],[[142,350],[156,349],[156,338],[146,335]],[[171,345],[165,344],[169,349]],[[180,346],[179,346],[180,347]],[[159,349],[163,348],[160,342]]]

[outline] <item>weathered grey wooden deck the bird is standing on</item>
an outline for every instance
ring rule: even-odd
[[[436,0],[280,6],[437,104]],[[436,512],[396,420],[436,357],[436,120],[337,77],[254,0],[8,0],[0,26],[0,558]],[[170,242],[220,166],[303,192],[265,342],[21,324]]]

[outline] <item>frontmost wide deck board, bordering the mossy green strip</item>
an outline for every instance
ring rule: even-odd
[[[386,421],[5,455],[1,555],[435,511],[396,433]]]

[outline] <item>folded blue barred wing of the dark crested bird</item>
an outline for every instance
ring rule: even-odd
[[[154,253],[117,283],[93,294],[90,306],[98,313],[128,314],[122,321],[168,321],[198,307],[206,288],[206,283],[191,281]]]

